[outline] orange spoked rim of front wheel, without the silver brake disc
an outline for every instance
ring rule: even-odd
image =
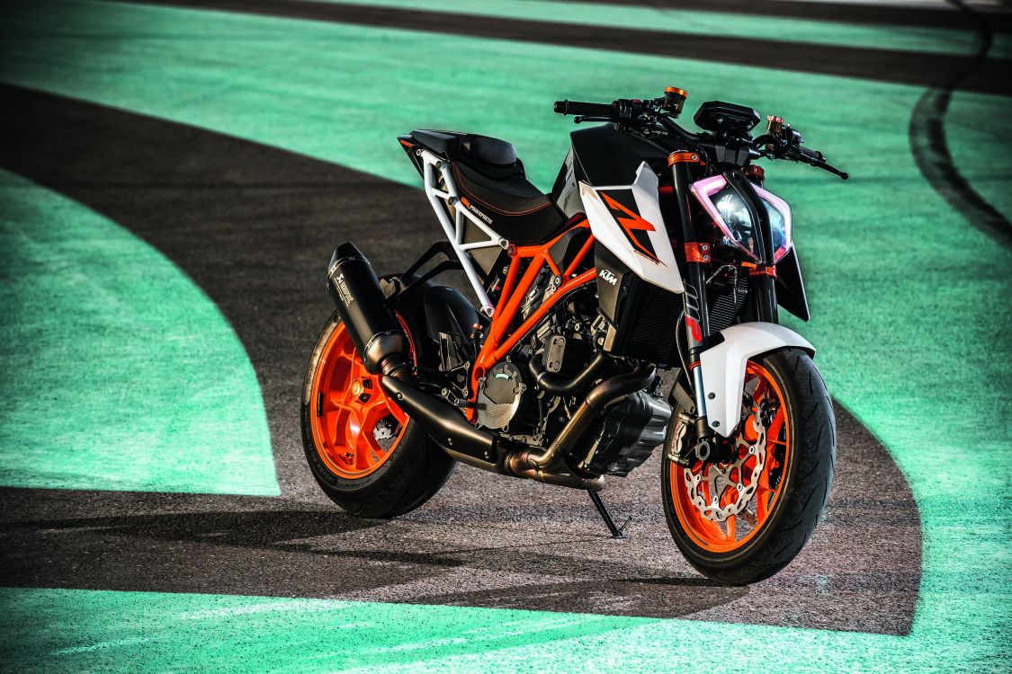
[[[678,521],[693,543],[711,553],[734,552],[754,539],[769,524],[773,508],[779,502],[784,488],[787,462],[790,461],[790,424],[787,419],[786,400],[772,375],[762,366],[750,362],[745,371],[746,386],[754,380],[758,381],[755,382],[754,406],[750,412],[754,412],[756,406],[763,404],[764,401],[766,404],[775,404],[776,412],[766,429],[766,462],[759,474],[756,492],[746,505],[746,509],[728,516],[724,522],[713,521],[703,516],[699,508],[692,503],[685,487],[686,471],[690,471],[692,475],[699,475],[709,464],[694,461],[689,467],[684,467],[672,463],[669,471],[669,488]],[[751,416],[742,423],[739,435],[747,443],[756,441],[758,434]],[[747,452],[747,450],[739,448],[737,452]],[[735,455],[733,459],[741,455]],[[743,465],[746,472],[755,467],[756,461],[758,459],[753,457]],[[733,479],[735,477],[741,481],[742,476],[732,476]],[[709,493],[705,481],[700,484],[699,489],[703,498],[710,502],[713,494]],[[719,503],[724,506],[734,500],[737,496],[733,492],[734,490],[730,488],[723,489],[718,495]]]

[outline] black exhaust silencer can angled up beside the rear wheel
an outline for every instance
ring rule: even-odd
[[[368,372],[381,374],[384,360],[407,353],[408,340],[380,289],[372,265],[353,244],[334,250],[327,288]]]

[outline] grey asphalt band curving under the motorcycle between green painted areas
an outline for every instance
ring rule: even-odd
[[[261,383],[281,485],[280,498],[2,489],[3,584],[909,633],[916,505],[888,452],[839,406],[825,521],[787,569],[749,588],[713,586],[682,560],[656,457],[603,494],[616,518],[632,517],[624,541],[607,537],[580,492],[469,467],[397,520],[345,515],[313,482],[298,426],[306,359],[331,310],[323,270],[344,239],[381,272],[409,264],[439,235],[421,192],[152,117],[0,93],[0,168],[151,243],[232,322]]]

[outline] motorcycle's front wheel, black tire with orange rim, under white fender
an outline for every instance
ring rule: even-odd
[[[729,585],[746,585],[769,578],[802,551],[821,518],[836,461],[833,404],[822,376],[808,354],[797,350],[766,354],[750,362],[749,372],[757,378],[768,377],[772,383],[767,389],[770,400],[776,396],[785,407],[780,424],[777,425],[776,421],[779,416],[775,416],[768,426],[770,434],[766,437],[766,447],[769,449],[766,456],[773,457],[773,461],[766,460],[763,474],[755,480],[757,489],[748,502],[748,507],[754,508],[755,512],[743,511],[734,515],[737,520],[735,528],[731,528],[727,521],[713,523],[699,516],[702,510],[693,505],[688,497],[686,469],[668,458],[678,432],[677,412],[681,410],[676,410],[669,424],[661,466],[664,511],[672,538],[696,570],[707,578]],[[747,381],[748,377],[746,375]],[[759,390],[757,388],[756,392]],[[755,436],[753,444],[758,445],[757,431],[744,430],[749,423],[750,419],[746,418],[740,432],[752,434]],[[774,436],[784,442],[773,443]],[[747,450],[742,451],[747,453]],[[777,462],[774,452],[783,458],[781,462]],[[693,473],[698,471],[696,474],[704,475],[704,471],[709,470],[707,466],[710,464],[697,461],[693,464],[689,469]],[[778,477],[769,473],[777,470],[776,466],[780,470]],[[749,474],[748,463],[739,469],[734,479],[747,480],[743,477],[746,474]],[[687,479],[693,479],[692,473]],[[774,483],[776,487],[772,487]],[[704,487],[700,485],[698,489],[702,494]],[[708,487],[705,490],[703,501],[708,502],[711,494]],[[719,486],[718,490],[722,487]],[[724,496],[734,500],[733,490],[727,491],[731,492],[730,496],[727,493]],[[722,495],[719,494],[718,498]],[[760,499],[771,505],[760,511]],[[754,523],[747,516],[754,517]],[[722,542],[719,533],[725,528],[725,536],[730,532],[730,538]]]

